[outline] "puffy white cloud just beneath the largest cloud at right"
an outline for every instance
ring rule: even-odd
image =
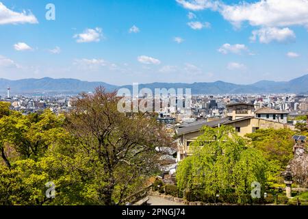
[[[261,43],[269,43],[272,41],[287,42],[292,41],[296,38],[292,29],[287,27],[279,29],[277,27],[263,27],[253,31],[251,41],[255,42],[259,38]]]

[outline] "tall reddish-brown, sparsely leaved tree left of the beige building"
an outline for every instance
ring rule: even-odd
[[[97,88],[73,101],[66,129],[80,145],[90,177],[88,186],[96,203],[121,204],[142,188],[142,181],[157,170],[157,146],[171,146],[162,125],[144,114],[131,117],[118,112],[116,93]]]

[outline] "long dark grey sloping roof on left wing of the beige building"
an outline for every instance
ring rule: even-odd
[[[231,118],[229,117],[225,117],[225,118],[220,118],[218,120],[213,120],[210,122],[194,122],[194,123],[190,123],[190,125],[186,126],[186,127],[181,127],[179,129],[177,129],[177,134],[179,136],[185,134],[185,133],[190,133],[190,132],[194,132],[194,131],[199,131],[201,130],[201,128],[205,125],[209,126],[209,127],[218,127],[218,125],[223,125],[224,123],[227,123],[231,121]]]

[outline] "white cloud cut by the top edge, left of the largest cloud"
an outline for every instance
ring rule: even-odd
[[[218,1],[211,0],[176,0],[177,3],[188,10],[198,11],[205,10],[207,8],[216,9],[219,5]]]

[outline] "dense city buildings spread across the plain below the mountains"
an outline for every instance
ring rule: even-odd
[[[74,94],[11,95],[8,88],[7,94],[2,94],[0,100],[10,102],[12,110],[25,114],[44,109],[60,113],[70,110],[70,99],[74,96]],[[308,95],[305,94],[192,94],[189,114],[176,110],[175,107],[160,109],[159,113],[171,114],[173,118],[177,118],[177,122],[189,123],[207,118],[221,118],[226,105],[230,103],[251,103],[256,109],[270,107],[287,112],[292,117],[305,116],[308,112]]]

